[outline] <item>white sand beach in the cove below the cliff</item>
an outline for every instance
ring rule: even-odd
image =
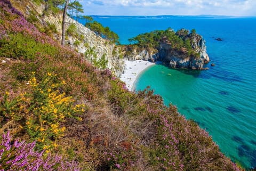
[[[146,68],[149,66],[152,66],[154,63],[143,61],[143,60],[137,60],[137,61],[128,61],[124,60],[125,63],[125,69],[124,74],[120,76],[120,79],[125,82],[126,87],[129,89],[129,91],[134,90],[134,83],[137,78],[137,76]]]

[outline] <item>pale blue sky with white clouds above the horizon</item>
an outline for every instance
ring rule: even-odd
[[[80,0],[84,15],[256,16],[256,0]]]

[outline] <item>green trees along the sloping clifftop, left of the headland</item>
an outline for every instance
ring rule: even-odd
[[[103,27],[101,23],[97,21],[86,22],[85,27],[91,29],[102,38],[106,38],[113,43],[119,44],[119,36],[115,34],[115,32],[111,31],[109,27]]]

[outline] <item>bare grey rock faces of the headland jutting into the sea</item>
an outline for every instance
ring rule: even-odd
[[[181,29],[176,32],[181,39],[189,40],[192,52],[188,48],[174,48],[166,39],[162,38],[156,48],[145,48],[136,45],[125,46],[125,58],[132,60],[162,61],[170,68],[188,68],[202,70],[204,64],[210,61],[206,52],[205,40],[196,33],[189,33],[188,30]],[[207,69],[207,68],[206,68]]]

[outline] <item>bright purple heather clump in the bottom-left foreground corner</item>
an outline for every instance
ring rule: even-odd
[[[36,151],[35,142],[15,140],[8,133],[2,135],[0,143],[1,170],[80,170],[76,162],[68,162],[62,156]]]

